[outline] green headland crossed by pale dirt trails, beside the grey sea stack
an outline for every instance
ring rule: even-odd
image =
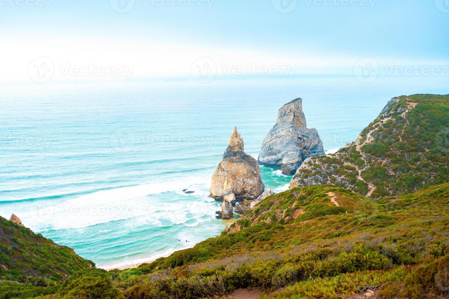
[[[355,142],[304,163],[291,187],[334,184],[379,198],[448,182],[448,127],[449,95],[394,98]]]

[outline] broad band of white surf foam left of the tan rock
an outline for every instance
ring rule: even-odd
[[[187,186],[206,203],[210,201],[206,189],[208,180],[209,178],[190,177],[97,191],[51,206],[47,204],[40,208],[36,205],[36,211],[30,211],[24,216],[24,221],[37,231],[43,227],[48,228],[48,225],[54,230],[79,229],[131,218],[132,221],[127,225],[139,223],[160,225],[161,219],[181,224],[189,220],[185,211],[190,210],[194,198],[167,202],[166,195],[161,197],[159,194],[177,192],[181,186]],[[213,208],[203,207],[200,212],[211,210]]]

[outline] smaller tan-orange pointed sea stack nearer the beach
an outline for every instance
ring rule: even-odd
[[[233,192],[235,199],[256,199],[264,192],[257,161],[243,151],[243,139],[234,128],[223,160],[212,176],[211,197],[223,200]]]

